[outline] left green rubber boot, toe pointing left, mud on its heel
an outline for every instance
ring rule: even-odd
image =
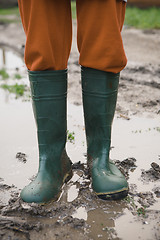
[[[63,183],[72,177],[66,151],[67,70],[29,71],[39,145],[38,174],[21,192],[25,202],[57,200]]]

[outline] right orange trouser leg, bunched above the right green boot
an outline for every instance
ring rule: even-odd
[[[113,73],[126,65],[121,30],[126,3],[121,0],[77,0],[79,63]]]

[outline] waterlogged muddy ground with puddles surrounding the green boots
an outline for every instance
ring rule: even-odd
[[[76,22],[73,25],[68,128],[75,140],[68,141],[67,150],[74,176],[57,202],[39,206],[19,198],[20,189],[36,174],[36,130],[30,102],[1,89],[0,239],[160,239],[160,31],[123,29],[128,65],[121,73],[111,157],[126,175],[130,192],[125,200],[106,202],[97,199],[87,177]],[[23,57],[21,25],[1,24],[0,32],[1,52]],[[23,78],[17,82],[26,83],[23,65],[8,71],[11,76],[20,73]]]

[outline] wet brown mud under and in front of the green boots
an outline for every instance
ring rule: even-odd
[[[130,159],[118,164],[124,172],[135,167]],[[137,222],[148,226],[154,220],[150,234],[155,235],[148,239],[159,239],[159,210],[149,209],[156,202],[154,193],[159,190],[138,192],[136,184],[131,184],[126,199],[106,202],[92,192],[85,164],[75,163],[73,170],[74,176],[63,187],[59,200],[44,205],[24,203],[19,198],[19,190],[2,181],[0,191],[10,196],[8,202],[0,203],[1,239],[37,239],[39,236],[41,239],[119,239],[115,223],[126,215],[126,221],[134,218],[135,226]],[[119,226],[122,225],[123,221]],[[145,232],[143,234],[145,239]],[[122,239],[127,239],[126,234],[123,236]]]

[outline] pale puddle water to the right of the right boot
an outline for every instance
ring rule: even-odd
[[[129,182],[136,183],[137,191],[151,191],[154,183],[144,184],[141,179],[141,170],[149,169],[152,162],[158,162],[160,132],[159,117],[157,119],[132,117],[125,121],[116,118],[113,124],[111,159],[123,160],[134,157],[138,166],[130,173]]]

